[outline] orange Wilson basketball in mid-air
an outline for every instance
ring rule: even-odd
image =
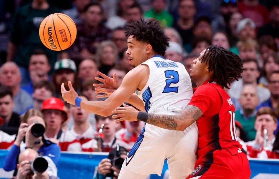
[[[65,50],[76,39],[76,24],[65,14],[51,14],[42,21],[39,34],[47,48],[56,51]]]

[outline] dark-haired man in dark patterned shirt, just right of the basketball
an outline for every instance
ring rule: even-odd
[[[83,23],[76,25],[76,40],[68,50],[71,59],[94,58],[99,43],[108,40],[110,30],[101,23],[102,19],[103,9],[99,3],[90,3],[85,7]]]

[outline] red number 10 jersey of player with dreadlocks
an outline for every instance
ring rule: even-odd
[[[188,105],[197,106],[203,115],[196,121],[198,126],[198,158],[217,149],[227,149],[237,154],[242,145],[236,140],[235,107],[229,95],[220,85],[205,81],[194,89]]]

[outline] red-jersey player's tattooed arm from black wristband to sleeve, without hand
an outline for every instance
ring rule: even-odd
[[[201,117],[203,112],[196,106],[188,105],[179,115],[139,112],[138,120],[164,129],[184,131]]]

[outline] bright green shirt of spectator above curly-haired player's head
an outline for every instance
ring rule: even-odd
[[[162,27],[170,27],[174,23],[174,18],[171,14],[165,10],[160,13],[156,13],[154,9],[150,9],[144,13],[146,19],[157,19]]]

